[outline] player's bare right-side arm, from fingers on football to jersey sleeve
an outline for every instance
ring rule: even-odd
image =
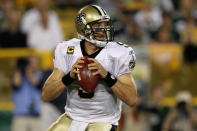
[[[111,74],[107,72],[99,62],[92,58],[89,58],[89,60],[94,61],[94,63],[89,64],[88,68],[90,70],[97,70],[93,74],[100,74],[109,88],[112,88],[117,97],[129,106],[134,106],[136,104],[137,89],[134,79],[130,73],[126,73],[118,76],[116,79],[112,79]]]

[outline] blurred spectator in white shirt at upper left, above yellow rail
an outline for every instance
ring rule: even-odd
[[[63,40],[58,17],[49,10],[48,0],[37,0],[35,7],[24,15],[22,30],[28,35],[28,46],[52,51]]]

